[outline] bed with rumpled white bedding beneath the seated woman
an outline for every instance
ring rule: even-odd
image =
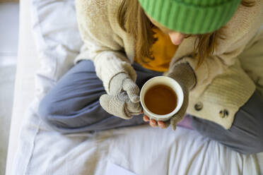
[[[74,1],[23,0],[20,9],[6,174],[263,174],[263,153],[242,155],[183,127],[49,130],[37,107],[81,47]]]

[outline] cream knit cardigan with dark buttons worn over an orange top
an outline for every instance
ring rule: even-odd
[[[124,32],[117,21],[121,1],[76,0],[78,28],[84,44],[74,64],[82,59],[92,60],[106,92],[117,73],[128,73],[136,80],[136,72],[131,67],[134,38]],[[242,70],[237,56],[262,23],[263,1],[255,0],[252,7],[238,7],[223,30],[227,39],[219,40],[214,54],[205,58],[201,67],[194,71],[197,84],[189,93],[188,114],[230,128],[235,113],[255,91],[255,83]],[[188,62],[195,68],[197,60],[189,56],[195,39],[189,37],[180,44],[170,66]]]

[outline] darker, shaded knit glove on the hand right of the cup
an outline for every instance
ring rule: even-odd
[[[188,107],[189,90],[196,84],[196,78],[192,67],[187,63],[175,65],[170,69],[167,76],[173,78],[181,85],[184,94],[184,101],[182,102],[181,109],[170,119],[170,125],[173,131],[175,131],[177,123],[185,116]]]

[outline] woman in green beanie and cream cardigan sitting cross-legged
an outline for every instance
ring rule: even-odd
[[[262,9],[259,0],[76,0],[84,45],[39,114],[62,133],[139,125],[149,121],[139,89],[165,75],[180,83],[184,102],[170,121],[151,119],[151,126],[175,130],[189,114],[201,134],[238,152],[261,152],[263,73],[245,73],[238,56],[255,40]]]

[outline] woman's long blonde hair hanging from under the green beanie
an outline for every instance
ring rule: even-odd
[[[242,0],[241,4],[247,7],[254,6],[254,2],[247,0]],[[153,36],[155,34],[153,28],[156,28],[156,26],[148,19],[139,1],[123,0],[121,6],[119,6],[117,18],[121,28],[131,34],[135,39],[136,58],[139,59],[141,63],[153,60],[154,57],[151,52],[151,47],[154,42],[158,40],[158,38]],[[197,40],[195,41],[192,55],[198,59],[197,68],[204,61],[204,58],[214,53],[218,38],[226,40],[226,36],[221,30],[223,28],[206,34],[194,35],[197,37]],[[193,35],[187,35],[187,37],[191,36]]]

